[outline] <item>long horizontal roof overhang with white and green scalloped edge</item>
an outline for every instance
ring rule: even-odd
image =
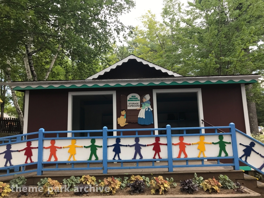
[[[14,90],[63,89],[63,88],[100,88],[133,87],[157,85],[197,85],[197,84],[249,84],[256,83],[260,75],[168,77],[144,79],[77,80],[77,81],[24,81],[0,83],[11,85]]]

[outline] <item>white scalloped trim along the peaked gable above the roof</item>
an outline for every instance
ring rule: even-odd
[[[146,65],[146,66],[148,66],[150,68],[153,68],[153,69],[155,69],[155,70],[157,70],[159,72],[163,72],[164,74],[166,74],[166,76],[171,76],[171,77],[180,77],[180,76],[182,76],[180,74],[174,73],[174,72],[172,72],[172,71],[170,71],[168,69],[165,69],[163,67],[155,65],[153,63],[150,63],[147,60],[144,60],[142,58],[139,58],[139,57],[131,54],[128,57],[126,57],[126,58],[120,60],[119,62],[115,63],[114,65],[111,65],[110,67],[107,67],[106,69],[103,69],[101,72],[98,72],[98,73],[94,74],[93,76],[90,76],[90,77],[86,78],[86,80],[98,79],[98,77],[103,76],[104,74],[110,72],[113,69],[118,68],[121,65],[124,65],[124,64],[128,63],[131,60],[134,60],[136,62],[144,64],[144,65]],[[161,77],[164,77],[164,76],[161,76]],[[134,78],[137,78],[137,76],[135,76]],[[102,77],[100,79],[102,79]],[[109,77],[107,79],[109,79]]]

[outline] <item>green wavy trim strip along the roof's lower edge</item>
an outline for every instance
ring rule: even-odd
[[[233,80],[229,80],[227,82],[223,82],[223,81],[216,81],[216,82],[211,82],[211,81],[205,81],[205,82],[199,82],[199,81],[195,81],[193,83],[184,81],[182,83],[177,83],[177,82],[171,82],[171,83],[165,83],[165,82],[161,82],[159,84],[155,84],[155,83],[148,83],[148,84],[143,84],[143,83],[138,83],[138,84],[131,84],[128,83],[126,85],[121,85],[121,84],[115,84],[113,86],[109,85],[109,84],[105,84],[103,86],[100,86],[98,84],[94,84],[92,86],[88,86],[87,84],[83,84],[82,86],[76,86],[76,85],[71,85],[69,87],[66,87],[65,85],[60,85],[58,87],[54,87],[53,85],[50,85],[48,87],[43,87],[43,86],[37,86],[37,87],[31,87],[31,86],[27,86],[25,88],[21,88],[19,86],[14,87],[13,90],[31,90],[31,89],[71,89],[71,88],[98,88],[98,87],[138,87],[138,86],[158,86],[158,85],[189,85],[189,84],[230,84],[230,83],[256,83],[256,80],[251,80],[251,81],[245,81],[245,80],[240,80],[238,82],[235,82]]]

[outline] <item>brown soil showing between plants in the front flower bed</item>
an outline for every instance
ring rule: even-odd
[[[176,187],[171,187],[168,189],[166,195],[188,195],[188,193],[182,192],[180,190],[180,183],[177,183]],[[151,188],[145,188],[143,193],[140,194],[133,194],[135,195],[150,195]],[[10,192],[8,197],[17,197],[17,195],[19,194],[19,192]],[[235,191],[233,189],[225,189],[225,188],[220,188],[220,192],[209,192],[209,190],[204,191],[202,188],[199,188],[198,191],[194,192],[193,195],[214,195],[214,194],[248,194],[247,192],[238,192]],[[118,189],[115,193],[115,195],[119,195],[119,196],[124,196],[124,195],[131,195],[131,191],[130,188],[125,188],[125,189]],[[156,193],[155,195],[159,195],[158,193]],[[78,195],[75,195],[74,192],[62,192],[62,193],[57,193],[55,195],[53,195],[52,197],[76,197]],[[100,193],[100,192],[88,192],[87,194],[83,194],[82,196],[114,196],[111,194],[105,194],[105,193]],[[22,195],[21,197],[28,197],[28,198],[33,198],[33,197],[46,197],[45,195],[42,195],[41,192],[29,192],[28,196],[26,195]]]

